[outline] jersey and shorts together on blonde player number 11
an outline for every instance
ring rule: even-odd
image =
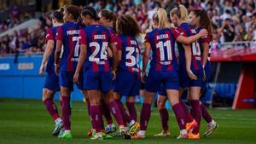
[[[165,89],[178,89],[176,77],[178,66],[174,52],[174,35],[178,34],[172,30],[170,28],[154,29],[145,37],[145,42],[150,43],[153,52],[146,83],[146,90],[150,92],[158,92],[162,83],[164,83]],[[166,78],[175,84],[167,83]]]

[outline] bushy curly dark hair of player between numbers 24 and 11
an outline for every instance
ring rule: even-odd
[[[131,17],[131,15],[121,15],[117,19],[117,28],[119,34],[125,36],[137,37],[141,33],[141,29],[137,24],[137,20]]]

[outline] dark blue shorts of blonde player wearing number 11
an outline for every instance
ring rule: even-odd
[[[163,85],[164,89],[178,90],[179,81],[177,72],[149,72],[145,89],[149,92],[157,93],[160,91],[161,85]]]

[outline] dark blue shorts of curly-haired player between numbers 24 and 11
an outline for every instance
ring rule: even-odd
[[[136,74],[119,70],[115,79],[114,91],[119,95],[136,96],[140,94],[141,81]]]

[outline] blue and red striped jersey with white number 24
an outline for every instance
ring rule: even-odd
[[[109,72],[107,49],[109,43],[114,43],[111,32],[102,25],[90,25],[80,30],[79,44],[86,45],[87,55],[84,71]]]

